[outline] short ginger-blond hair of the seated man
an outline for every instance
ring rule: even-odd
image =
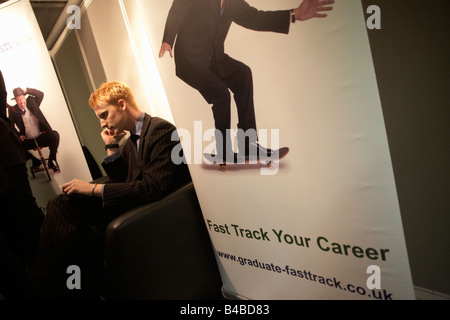
[[[131,109],[139,109],[133,91],[125,83],[111,81],[103,83],[89,98],[89,106],[94,109],[99,105],[110,104],[119,107],[119,100],[125,100]]]

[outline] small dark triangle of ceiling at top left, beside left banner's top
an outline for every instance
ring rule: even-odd
[[[0,0],[0,3],[7,2]],[[50,32],[63,12],[68,0],[30,0],[36,19],[41,28],[42,35],[47,40]]]

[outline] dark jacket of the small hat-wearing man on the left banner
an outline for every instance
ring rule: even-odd
[[[42,91],[31,88],[27,89],[27,93],[27,108],[39,120],[41,132],[51,132],[52,127],[48,123],[40,108],[42,100],[44,99],[44,93]],[[19,128],[18,135],[25,136],[25,125],[23,123],[21,111],[17,104],[12,107],[12,110],[9,111],[9,120],[13,125],[15,124]]]

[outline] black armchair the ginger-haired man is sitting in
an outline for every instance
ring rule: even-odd
[[[222,299],[218,266],[192,183],[135,208],[106,230],[106,299]]]

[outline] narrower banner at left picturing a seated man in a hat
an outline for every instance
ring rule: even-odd
[[[89,181],[92,177],[29,1],[9,1],[2,4],[0,30],[0,70],[8,92],[10,120],[20,132],[24,120],[20,120],[22,116],[13,92],[18,88],[23,89],[24,96],[34,101],[34,106],[28,105],[27,108],[38,118],[41,131],[52,132],[53,137],[58,138],[56,142],[44,141],[39,149],[31,144],[32,147],[28,150],[36,159],[41,159],[39,150],[45,159],[50,157],[50,149],[56,153],[59,170],[49,168],[48,174],[43,170],[42,164],[32,171],[32,159],[27,162],[33,194],[38,205],[45,209],[48,200],[61,193],[61,184],[74,178]],[[32,143],[35,136],[24,138],[28,140],[26,143]],[[48,165],[47,161],[46,163]]]

